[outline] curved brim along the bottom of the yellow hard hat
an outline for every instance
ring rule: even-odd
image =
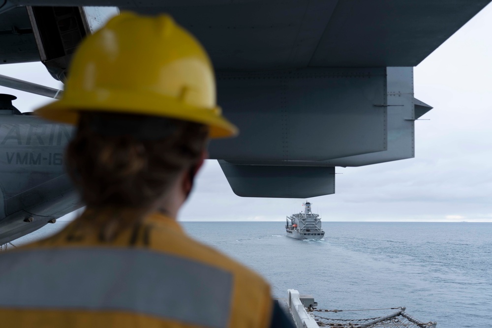
[[[95,102],[94,99],[97,99]],[[138,103],[139,107],[135,108]],[[97,104],[97,107],[94,107]],[[158,105],[156,105],[158,104]],[[44,119],[76,125],[80,112],[107,112],[141,114],[201,123],[210,127],[211,139],[238,135],[238,128],[220,115],[220,108],[193,107],[175,98],[149,92],[115,92],[98,90],[66,96],[35,111]]]

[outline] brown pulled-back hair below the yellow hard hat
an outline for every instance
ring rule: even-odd
[[[205,125],[189,121],[83,113],[67,171],[90,208],[145,209],[197,165],[207,136]]]

